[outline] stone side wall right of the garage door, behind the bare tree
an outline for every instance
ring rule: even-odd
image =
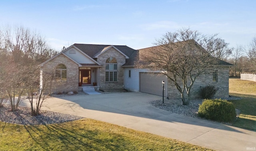
[[[204,74],[199,76],[190,91],[191,98],[200,98],[199,92],[201,87],[206,85],[214,85],[219,87],[214,97],[228,97],[229,96],[229,68],[218,68],[218,82],[212,82],[212,74]],[[181,83],[181,80],[179,81]],[[176,89],[174,82],[168,79],[168,96],[169,98],[181,98],[180,92]]]

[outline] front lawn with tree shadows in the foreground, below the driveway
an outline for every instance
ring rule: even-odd
[[[0,122],[0,150],[204,151],[210,149],[93,119],[81,119],[52,125],[16,125]]]

